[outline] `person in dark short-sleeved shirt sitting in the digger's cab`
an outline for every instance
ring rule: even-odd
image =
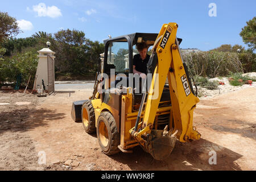
[[[139,51],[138,55],[133,59],[133,74],[138,74],[143,79],[147,76],[147,63],[150,60],[150,55],[147,54],[148,46],[146,43],[139,43],[137,45]]]

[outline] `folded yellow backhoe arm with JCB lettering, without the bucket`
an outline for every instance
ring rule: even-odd
[[[180,142],[198,140],[201,136],[193,129],[193,111],[199,103],[199,98],[195,96],[191,88],[187,68],[180,54],[179,43],[176,39],[177,28],[176,23],[168,23],[164,24],[160,30],[158,35],[160,41],[153,50],[158,56],[158,64],[156,64],[148,92],[143,121],[138,125],[141,126],[141,130],[135,131],[136,126],[130,130],[130,134],[147,150],[149,150],[147,137],[152,133],[156,111],[167,77],[172,102],[172,117],[170,118],[174,119],[174,126],[170,122],[170,129],[173,128],[172,134],[177,131],[177,138]]]

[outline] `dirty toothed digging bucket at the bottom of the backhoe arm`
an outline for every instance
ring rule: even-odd
[[[164,160],[174,150],[176,137],[163,137],[163,130],[152,130],[147,138],[147,151],[156,160]]]

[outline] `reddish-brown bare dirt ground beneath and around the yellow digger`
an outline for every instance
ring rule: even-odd
[[[38,98],[0,91],[0,102],[10,103],[0,106],[0,170],[256,170],[256,88],[202,100],[194,117],[201,139],[177,142],[164,161],[139,146],[133,154],[104,155],[96,135],[86,134],[70,115],[72,102],[91,94]],[[25,101],[31,104],[15,105]],[[40,151],[46,165],[38,164]],[[216,165],[208,162],[210,151],[217,153]]]

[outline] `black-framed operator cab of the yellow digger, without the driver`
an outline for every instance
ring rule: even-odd
[[[129,35],[118,36],[117,38],[104,40],[105,43],[105,53],[104,60],[101,62],[101,73],[105,73],[109,77],[109,88],[115,88],[118,82],[126,79],[126,87],[129,86],[129,73],[133,74],[133,57],[137,55],[139,52],[136,49],[138,43],[145,42],[148,47],[152,47],[155,43],[158,34],[151,33],[134,33]],[[179,44],[182,39],[179,39]],[[148,49],[148,55],[150,55],[151,49]],[[113,73],[111,74],[112,69],[115,70],[115,77]],[[121,75],[121,76],[120,76]],[[121,77],[121,78],[120,78]],[[134,78],[133,78],[134,79]],[[115,80],[113,82],[113,80]],[[105,85],[106,86],[106,85]],[[168,86],[167,86],[168,87]],[[133,88],[135,88],[135,82],[133,81]],[[104,88],[102,88],[104,89]],[[106,88],[105,88],[106,89]],[[141,102],[142,97],[142,80],[140,79],[139,83],[139,93],[134,93],[134,104],[138,104]],[[107,97],[109,94],[106,94]],[[103,94],[102,101],[106,100],[108,102],[108,98]],[[166,90],[163,93],[163,100],[170,100],[170,92]]]

